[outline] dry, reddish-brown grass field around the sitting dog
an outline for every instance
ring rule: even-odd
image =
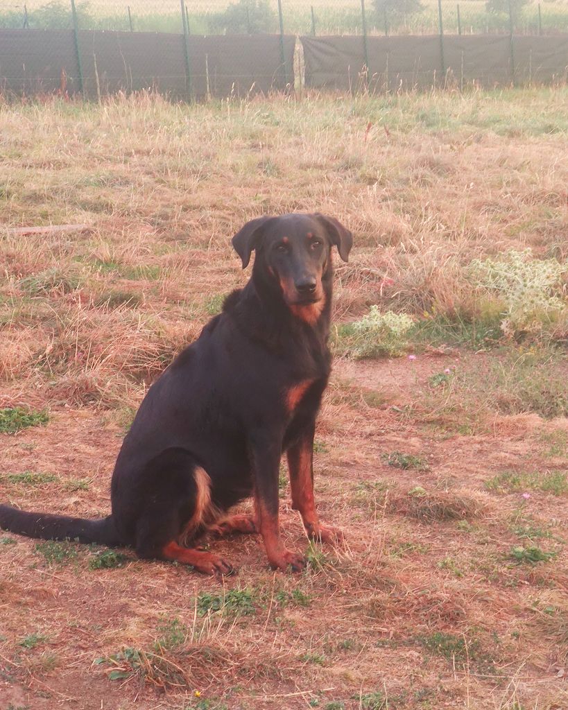
[[[247,219],[355,238],[315,442],[344,547],[307,545],[284,468],[298,575],[256,537],[210,542],[216,579],[0,531],[1,710],[568,707],[567,135],[565,87],[0,104],[2,502],[107,514]],[[50,224],[87,229],[10,231]]]

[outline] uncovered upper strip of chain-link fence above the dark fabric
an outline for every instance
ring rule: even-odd
[[[71,0],[0,0],[0,28],[70,29]],[[80,29],[192,35],[556,34],[568,0],[76,0]],[[280,25],[282,22],[282,26]]]

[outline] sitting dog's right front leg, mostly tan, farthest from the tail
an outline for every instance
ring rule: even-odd
[[[342,539],[342,532],[322,525],[315,507],[314,434],[315,422],[310,422],[310,425],[302,431],[302,437],[286,452],[292,489],[292,508],[300,511],[302,522],[310,537],[333,544]]]

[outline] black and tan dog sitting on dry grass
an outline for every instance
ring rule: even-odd
[[[307,533],[333,542],[313,489],[315,418],[327,386],[332,246],[347,261],[351,232],[322,214],[259,217],[233,238],[252,278],[224,302],[148,391],[116,460],[112,512],[102,520],[0,506],[0,528],[50,540],[130,545],[140,557],[200,572],[231,565],[185,545],[206,529],[261,532],[273,568],[302,569],[278,527],[286,452],[292,505]],[[255,515],[226,511],[254,496]]]

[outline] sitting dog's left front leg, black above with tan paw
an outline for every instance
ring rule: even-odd
[[[282,437],[261,435],[251,442],[251,459],[255,482],[256,515],[263,536],[266,555],[273,569],[300,572],[306,565],[303,555],[286,550],[280,539],[278,524],[278,469]]]

